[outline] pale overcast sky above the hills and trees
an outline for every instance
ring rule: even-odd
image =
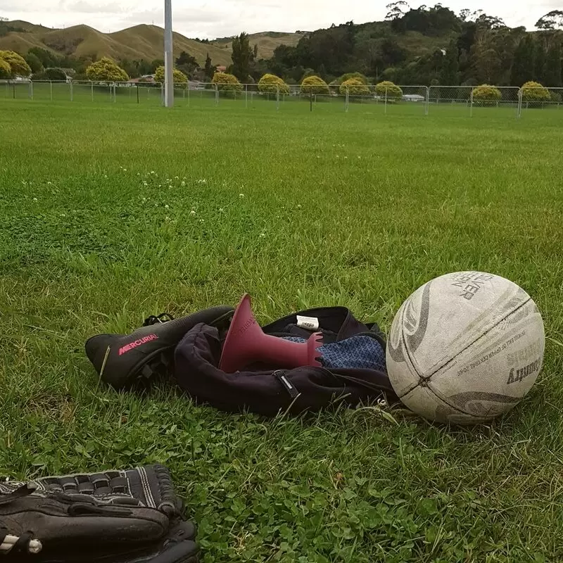
[[[329,27],[332,23],[381,20],[388,1],[358,0],[172,0],[174,30],[188,37],[226,37],[241,31],[293,32]],[[424,0],[412,3],[412,7]],[[429,3],[433,5],[434,2]],[[562,8],[562,0],[450,0],[456,13],[471,6],[496,15],[507,25],[533,29],[541,15]],[[48,27],[86,23],[114,32],[139,23],[163,25],[164,0],[0,0],[0,17]]]

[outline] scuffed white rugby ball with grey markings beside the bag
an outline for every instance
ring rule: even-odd
[[[530,391],[544,350],[543,320],[524,289],[486,272],[455,272],[403,303],[386,365],[410,410],[437,422],[479,424]]]

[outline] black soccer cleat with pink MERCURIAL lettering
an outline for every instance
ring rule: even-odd
[[[220,305],[173,319],[163,313],[151,316],[132,334],[98,334],[88,339],[86,355],[101,379],[115,389],[131,386],[139,380],[170,374],[174,350],[186,332],[201,322],[227,329],[234,308]],[[169,317],[171,320],[163,318]]]

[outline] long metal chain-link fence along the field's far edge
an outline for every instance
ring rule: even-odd
[[[175,103],[184,107],[235,104],[275,110],[301,104],[310,111],[363,111],[396,115],[490,115],[491,108],[521,118],[537,110],[563,109],[563,88],[474,86],[282,85],[260,91],[257,84],[175,84]],[[120,103],[160,106],[164,85],[153,82],[0,81],[0,99]],[[562,114],[563,115],[563,114]]]

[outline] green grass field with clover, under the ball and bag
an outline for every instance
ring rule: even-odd
[[[0,474],[163,462],[206,563],[562,561],[560,115],[2,99]],[[523,286],[548,336],[529,396],[478,429],[118,394],[83,352],[244,291],[262,323],[346,305],[387,330],[466,269]]]

